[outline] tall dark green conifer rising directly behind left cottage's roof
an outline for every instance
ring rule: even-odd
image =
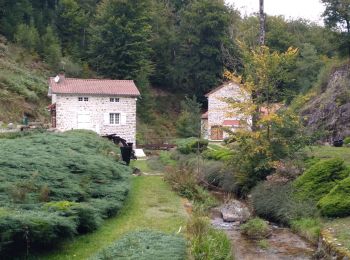
[[[90,64],[110,78],[145,82],[152,72],[150,23],[149,0],[102,1],[90,32]]]

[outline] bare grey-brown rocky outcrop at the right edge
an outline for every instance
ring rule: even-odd
[[[311,131],[324,131],[325,141],[350,136],[350,64],[334,69],[322,93],[301,112]]]

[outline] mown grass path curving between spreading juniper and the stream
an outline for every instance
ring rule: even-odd
[[[96,232],[65,241],[55,251],[32,259],[87,259],[129,231],[147,228],[176,233],[186,218],[181,198],[161,177],[133,177],[129,198],[118,216],[106,220]]]

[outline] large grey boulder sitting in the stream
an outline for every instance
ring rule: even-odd
[[[220,208],[225,222],[244,223],[250,218],[250,212],[246,205],[238,200],[230,200]]]

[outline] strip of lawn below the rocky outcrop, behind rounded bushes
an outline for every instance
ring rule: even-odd
[[[309,156],[320,159],[340,158],[350,166],[350,147],[312,146],[306,152]]]

